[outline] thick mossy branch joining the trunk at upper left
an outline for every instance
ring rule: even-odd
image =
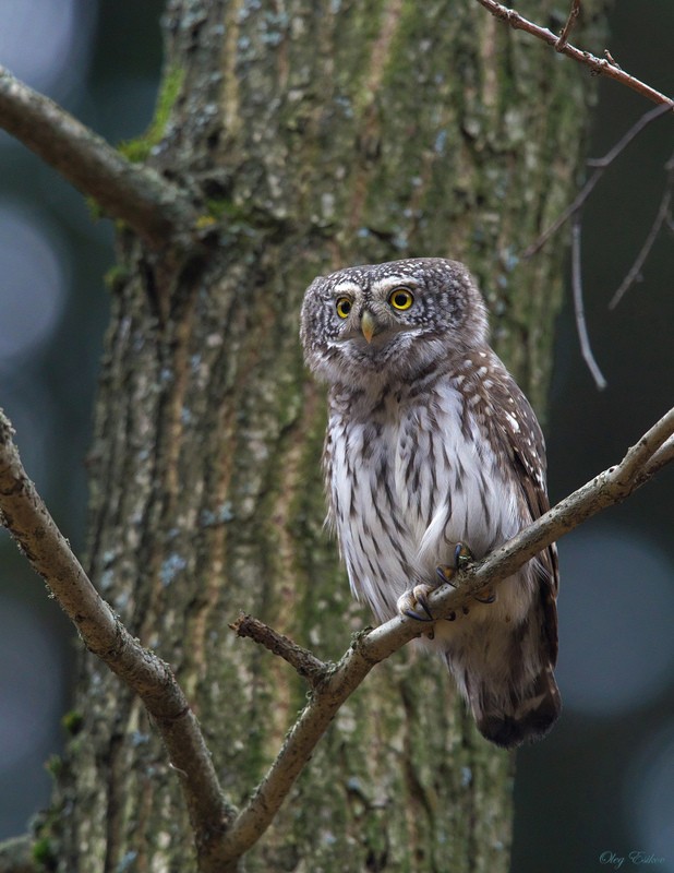
[[[0,127],[57,169],[111,217],[155,248],[193,244],[196,211],[157,172],[127,160],[52,100],[0,67]]]

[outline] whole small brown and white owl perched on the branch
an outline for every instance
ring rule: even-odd
[[[482,296],[457,261],[349,267],[306,289],[301,339],[328,385],[328,522],[351,589],[378,621],[428,620],[453,569],[549,509],[541,429],[489,346]],[[500,746],[559,714],[557,584],[551,547],[428,634]]]

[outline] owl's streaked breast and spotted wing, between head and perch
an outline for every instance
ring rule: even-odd
[[[547,509],[540,428],[491,350],[412,385],[335,385],[329,400],[330,519],[354,590],[380,615],[393,614],[410,577],[448,562],[457,541],[482,558]],[[388,609],[371,588],[386,591]]]

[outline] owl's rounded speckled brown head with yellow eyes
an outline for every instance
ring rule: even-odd
[[[464,264],[418,258],[318,276],[304,295],[300,333],[312,372],[370,387],[483,347],[488,323]]]

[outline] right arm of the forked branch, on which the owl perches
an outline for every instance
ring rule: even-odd
[[[616,467],[601,473],[501,548],[457,577],[457,587],[441,586],[429,603],[436,618],[469,602],[485,586],[493,588],[590,516],[625,500],[674,458],[674,409],[633,446]],[[424,631],[428,625],[424,625]],[[269,826],[290,788],[311,757],[330,720],[370,670],[420,634],[419,622],[397,617],[358,635],[335,669],[312,693],[278,757],[224,839],[224,857],[240,858]],[[233,868],[232,868],[233,869]]]

